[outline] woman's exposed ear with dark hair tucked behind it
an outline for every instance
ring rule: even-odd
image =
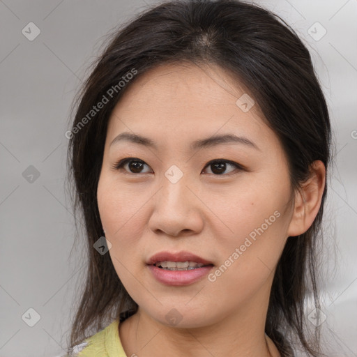
[[[311,227],[321,206],[325,180],[324,162],[312,162],[309,178],[301,184],[301,190],[296,190],[295,193],[294,212],[287,230],[288,236],[299,236]]]

